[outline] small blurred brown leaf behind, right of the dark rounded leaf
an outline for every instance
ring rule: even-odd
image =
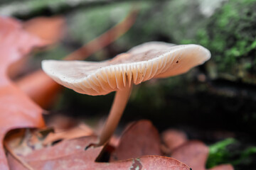
[[[181,130],[169,129],[161,133],[164,144],[172,151],[187,141],[187,136]]]

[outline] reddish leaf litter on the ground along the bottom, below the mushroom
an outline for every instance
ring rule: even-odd
[[[188,140],[183,145],[173,149],[169,155],[171,157],[163,157],[159,132],[149,120],[139,120],[128,125],[120,137],[119,145],[114,147],[112,151],[107,150],[106,146],[105,148],[92,147],[85,150],[87,145],[97,141],[96,135],[64,139],[57,144],[52,142],[44,145],[43,141],[53,133],[52,131],[45,133],[44,137],[39,137],[41,140],[38,140],[37,144],[28,145],[29,142],[24,142],[24,140],[31,141],[31,138],[35,138],[34,136],[38,137],[38,130],[31,130],[30,132],[30,138],[25,133],[23,135],[25,137],[18,136],[21,138],[20,140],[23,139],[23,142],[17,142],[17,137],[11,137],[11,140],[6,139],[6,142],[9,143],[9,149],[12,150],[12,154],[8,154],[11,169],[21,169],[22,167],[22,169],[180,170],[191,167],[192,169],[206,170],[208,147],[203,142]],[[36,147],[36,145],[41,145],[41,147]],[[125,147],[125,145],[127,146]],[[20,147],[29,147],[30,149],[21,152]],[[110,152],[110,162],[95,162],[95,160],[101,159],[103,152]],[[17,161],[17,157],[19,161]],[[232,170],[233,166],[220,165],[210,170],[222,169]]]

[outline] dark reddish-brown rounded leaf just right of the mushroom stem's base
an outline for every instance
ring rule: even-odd
[[[149,120],[139,120],[125,130],[110,160],[130,159],[149,154],[161,155],[159,132]]]

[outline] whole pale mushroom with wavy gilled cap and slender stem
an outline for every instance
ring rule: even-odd
[[[113,134],[122,116],[132,84],[152,78],[166,78],[187,72],[210,59],[210,52],[201,45],[173,45],[146,42],[127,53],[102,62],[44,60],[43,71],[59,84],[80,94],[92,96],[117,91],[99,142],[104,145]]]

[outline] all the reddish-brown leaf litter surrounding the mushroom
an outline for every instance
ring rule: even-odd
[[[131,15],[135,14],[132,13]],[[124,28],[124,33],[132,26],[131,23],[134,22],[131,18],[129,18],[128,21],[130,25]],[[21,22],[12,18],[0,18],[0,22],[4,23],[4,27],[0,28],[1,37],[4,37],[0,40],[0,120],[2,120],[0,122],[0,137],[3,141],[6,132],[9,132],[9,130],[15,128],[42,128],[44,126],[41,115],[43,109],[28,98],[31,94],[27,92],[28,96],[26,96],[26,94],[21,91],[23,88],[18,89],[17,86],[11,82],[6,75],[7,69],[9,69],[11,64],[28,55],[28,53],[33,50],[33,47],[44,47],[48,45],[49,42],[55,43],[60,37],[52,39],[48,37],[48,41],[46,41],[47,38],[43,40],[42,37],[44,35],[41,36],[40,33],[38,33],[37,36],[42,39],[36,37],[36,30],[33,31],[33,24],[23,26]],[[31,21],[31,23],[33,22]],[[58,22],[59,25],[55,25],[57,27],[63,24],[63,19],[58,20]],[[23,28],[26,28],[35,35],[28,33],[26,30],[23,30]],[[110,32],[111,31],[112,30],[110,30]],[[100,38],[104,39],[105,36],[103,35]],[[119,36],[120,35],[117,35],[114,39]],[[24,41],[28,43],[25,44],[23,43]],[[111,41],[112,40],[110,40],[110,42]],[[106,42],[106,44],[110,42]],[[94,41],[91,43],[95,44]],[[88,46],[84,48],[86,49],[86,47]],[[80,52],[81,51],[83,50],[80,50]],[[80,54],[80,52],[74,53],[74,56],[78,57],[77,55]],[[73,56],[69,55],[68,59],[70,58],[73,58]],[[16,74],[18,67],[14,67],[14,69],[11,70],[13,70],[11,71],[12,74]],[[41,71],[34,72],[33,74],[33,76],[28,75],[28,77],[25,77],[26,81],[16,81],[18,86],[25,86],[27,89],[34,88],[34,91],[36,87],[38,87],[36,91],[41,91],[42,89],[44,89],[45,92],[57,91],[54,88],[50,88],[53,86],[38,86],[36,83],[30,86],[30,82],[36,82],[35,79],[38,75],[40,75],[40,78],[45,77],[46,80],[48,79]],[[50,82],[46,84],[50,84]],[[50,98],[50,96],[39,94],[35,96],[38,96],[41,101]],[[34,101],[41,104],[41,101]],[[41,104],[41,106],[48,106],[48,103]],[[175,130],[163,133],[162,136],[165,136],[162,141],[164,142],[165,150],[162,147],[163,144],[161,144],[159,132],[154,125],[152,125],[149,120],[140,120],[129,125],[121,137],[112,137],[112,141],[114,141],[112,142],[114,143],[112,150],[106,149],[108,145],[85,150],[87,145],[97,140],[94,130],[90,129],[85,124],[78,124],[77,126],[72,126],[65,130],[56,127],[14,130],[9,132],[6,140],[4,140],[6,153],[4,152],[1,142],[0,169],[182,170],[190,169],[188,166],[191,166],[193,169],[205,169],[206,159],[208,157],[208,147],[206,147],[206,145],[198,141],[189,141],[186,139],[184,133],[181,134]],[[168,156],[174,158],[164,157],[164,155],[166,155],[166,149],[168,150]],[[95,162],[95,160],[102,159],[101,157],[104,152],[109,152],[110,162]],[[6,161],[6,156],[8,162]],[[233,167],[230,165],[220,165],[215,166],[211,170],[220,169],[231,170]]]

